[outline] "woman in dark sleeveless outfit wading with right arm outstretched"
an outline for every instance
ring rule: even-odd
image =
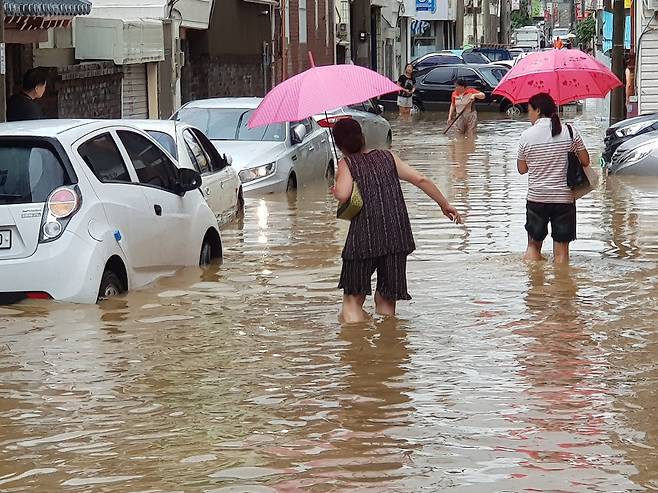
[[[425,192],[451,221],[461,224],[462,217],[432,180],[389,151],[367,150],[356,120],[336,123],[334,139],[345,156],[338,163],[334,197],[346,203],[357,183],[364,204],[352,219],[342,253],[338,287],[344,294],[339,318],[345,323],[367,318],[363,303],[372,294],[375,271],[377,313],[395,315],[396,302],[411,299],[407,292],[407,256],[416,248],[400,180]]]

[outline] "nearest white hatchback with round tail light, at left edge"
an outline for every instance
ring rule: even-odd
[[[94,303],[221,257],[200,186],[126,125],[0,125],[0,298]]]

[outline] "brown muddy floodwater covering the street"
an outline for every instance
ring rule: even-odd
[[[602,124],[575,123],[597,154]],[[220,267],[0,307],[0,490],[658,490],[658,179],[607,179],[571,268],[525,265],[527,125],[484,121],[472,144],[394,119],[467,215],[404,186],[398,320],[336,322],[347,223],[324,184],[249,200]]]

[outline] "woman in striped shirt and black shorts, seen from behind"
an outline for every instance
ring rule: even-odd
[[[580,134],[562,125],[549,94],[531,97],[528,115],[532,127],[521,134],[517,161],[519,173],[528,174],[525,258],[544,259],[541,248],[550,223],[555,262],[568,263],[569,243],[576,239],[576,201],[567,185],[568,155],[575,152],[581,164],[589,166],[589,153]]]

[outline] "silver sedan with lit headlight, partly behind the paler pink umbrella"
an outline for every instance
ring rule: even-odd
[[[260,98],[192,101],[172,117],[201,129],[233,158],[245,194],[294,190],[334,170],[329,132],[313,118],[249,128]]]

